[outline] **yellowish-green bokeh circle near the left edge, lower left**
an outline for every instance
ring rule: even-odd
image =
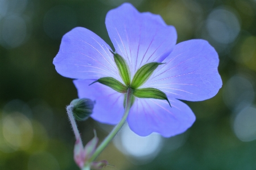
[[[3,137],[14,150],[30,147],[33,130],[30,120],[21,113],[7,114],[3,117]]]

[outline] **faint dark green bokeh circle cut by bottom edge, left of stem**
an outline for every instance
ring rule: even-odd
[[[59,163],[56,158],[48,152],[38,152],[30,156],[28,170],[58,170]]]

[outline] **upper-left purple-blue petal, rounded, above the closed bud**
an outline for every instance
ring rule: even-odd
[[[76,27],[63,36],[53,60],[57,72],[75,79],[120,79],[110,46],[89,29]]]

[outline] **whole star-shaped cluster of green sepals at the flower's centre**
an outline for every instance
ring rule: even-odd
[[[166,94],[164,94],[164,92],[156,88],[139,88],[142,86],[142,84],[144,84],[150,78],[150,76],[153,74],[155,69],[159,65],[162,65],[164,63],[150,62],[150,63],[147,63],[146,65],[143,65],[135,73],[133,80],[131,81],[129,66],[127,65],[125,59],[123,59],[123,57],[120,56],[119,54],[112,52],[111,50],[110,52],[113,54],[115,64],[117,65],[117,68],[119,71],[119,75],[121,76],[125,84],[119,82],[118,80],[112,77],[100,78],[94,81],[93,83],[98,82],[112,88],[117,92],[123,93],[125,94],[125,99],[126,99],[126,93],[128,88],[131,88],[133,90],[133,98],[132,98],[131,104],[134,103],[135,97],[139,97],[139,98],[167,100],[168,104],[171,106],[170,101],[168,100],[168,97],[166,96]],[[126,101],[123,102],[124,107],[125,107],[125,103]]]

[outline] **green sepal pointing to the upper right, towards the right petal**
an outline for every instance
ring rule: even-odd
[[[131,88],[136,89],[143,83],[145,83],[155,71],[156,67],[162,64],[163,63],[160,62],[151,62],[139,68],[139,70],[135,73],[133,77],[133,81],[131,82]]]

